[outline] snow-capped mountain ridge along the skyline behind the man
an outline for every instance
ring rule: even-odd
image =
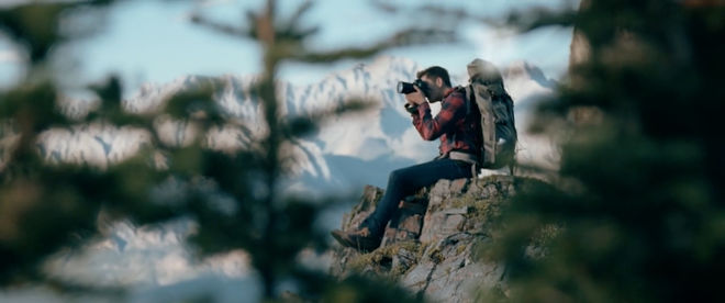
[[[359,64],[309,86],[280,81],[277,92],[281,101],[280,111],[288,117],[328,110],[350,98],[375,102],[365,112],[331,117],[320,132],[289,146],[297,159],[289,188],[326,192],[359,189],[366,183],[384,187],[390,170],[435,157],[438,143],[421,139],[412,127],[410,115],[404,111],[403,96],[395,92],[398,81],[411,81],[422,68],[410,59],[379,57],[369,65]],[[466,79],[465,70],[465,66],[451,68],[454,81],[462,83]],[[547,79],[540,69],[524,61],[502,69],[502,75],[506,89],[514,98],[517,128],[524,133],[532,105],[540,97],[549,94],[555,82]],[[215,81],[219,105],[243,121],[250,134],[232,128],[219,130],[210,134],[210,146],[239,147],[265,132],[258,123],[261,106],[248,93],[255,80],[254,76],[186,76],[166,85],[144,85],[123,105],[133,113],[154,112],[168,97]],[[438,106],[439,103],[434,103],[434,111]],[[77,105],[74,109],[75,112],[82,110]],[[148,135],[143,133],[127,135],[137,130],[122,132],[103,127],[91,125],[74,131],[54,130],[43,136],[44,155],[51,160],[71,159],[105,165],[133,154],[141,142],[148,139]],[[163,139],[177,144],[187,142],[193,133],[188,125],[164,119],[159,119],[157,127]],[[536,154],[544,152],[538,147],[533,150],[526,141],[527,136],[522,134],[521,160],[540,162],[542,157]],[[76,144],[68,144],[71,142]]]

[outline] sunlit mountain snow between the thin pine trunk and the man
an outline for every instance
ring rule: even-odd
[[[322,152],[365,160],[393,154],[423,160],[424,156],[413,150],[435,150],[435,146],[411,139],[417,134],[409,132],[411,122],[403,108],[404,99],[395,92],[398,81],[411,81],[417,69],[411,60],[392,57],[381,57],[369,66],[357,65],[295,90],[293,98],[287,99],[288,111],[303,114],[324,110],[355,97],[375,100],[378,103],[366,112],[332,117],[327,122],[331,127],[323,127],[315,136]]]

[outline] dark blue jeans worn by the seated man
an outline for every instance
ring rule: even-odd
[[[393,170],[388,179],[386,194],[360,227],[368,227],[371,234],[382,236],[388,221],[398,210],[398,204],[403,198],[440,179],[471,178],[471,173],[470,164],[447,158]]]

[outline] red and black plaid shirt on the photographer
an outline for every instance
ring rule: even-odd
[[[428,102],[417,105],[417,111],[411,111],[413,125],[421,137],[426,141],[440,137],[440,155],[456,150],[478,156],[481,146],[480,112],[471,108],[466,119],[466,91],[448,89],[440,106],[435,117],[431,115]]]

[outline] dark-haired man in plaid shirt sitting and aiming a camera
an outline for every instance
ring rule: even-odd
[[[439,155],[434,160],[394,170],[388,188],[375,212],[355,231],[333,231],[333,237],[343,246],[370,251],[380,246],[388,221],[398,209],[400,200],[417,189],[440,179],[471,178],[471,165],[478,161],[481,146],[480,112],[476,104],[467,110],[466,90],[455,89],[446,69],[433,66],[417,72],[426,86],[405,94],[405,109],[413,117],[413,125],[423,139],[440,138]],[[442,102],[440,112],[433,117],[426,102]],[[467,114],[467,112],[469,112]]]

